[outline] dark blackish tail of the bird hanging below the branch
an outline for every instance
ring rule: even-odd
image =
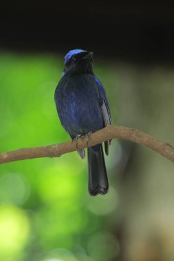
[[[102,144],[87,149],[88,155],[88,190],[91,196],[106,194],[109,189],[105,158],[103,155]]]

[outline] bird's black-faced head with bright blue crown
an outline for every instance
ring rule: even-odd
[[[63,75],[66,73],[93,73],[92,71],[92,52],[81,49],[74,49],[65,55],[65,68]]]

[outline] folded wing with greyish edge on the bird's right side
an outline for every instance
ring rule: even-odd
[[[98,85],[98,92],[99,92],[99,97],[100,97],[100,108],[102,111],[102,116],[103,116],[103,122],[104,126],[111,125],[111,113],[109,109],[109,104],[107,101],[107,95],[105,93],[105,89],[102,86],[102,83],[96,76],[94,76],[94,79]],[[109,144],[111,144],[111,140],[105,141],[105,153],[106,155],[109,154]]]

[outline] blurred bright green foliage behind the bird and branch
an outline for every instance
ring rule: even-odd
[[[111,70],[95,69],[111,85]],[[54,104],[62,70],[62,56],[1,52],[1,152],[69,140]],[[0,260],[114,260],[117,198],[112,187],[88,195],[87,161],[76,152],[1,165]]]

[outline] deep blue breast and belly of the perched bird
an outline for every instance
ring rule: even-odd
[[[56,106],[61,123],[68,132],[73,129],[77,134],[86,134],[102,128],[98,93],[91,76],[68,77],[58,87]]]

